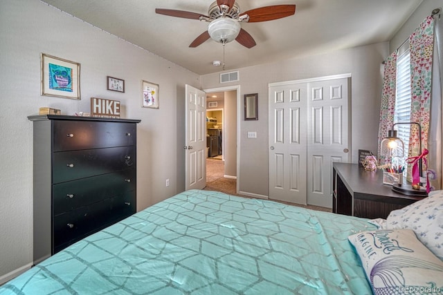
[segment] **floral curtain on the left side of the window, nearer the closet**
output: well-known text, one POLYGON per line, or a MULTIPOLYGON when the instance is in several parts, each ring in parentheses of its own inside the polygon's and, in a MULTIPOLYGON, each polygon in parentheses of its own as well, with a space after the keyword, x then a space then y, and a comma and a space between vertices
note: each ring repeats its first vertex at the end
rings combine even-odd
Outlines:
POLYGON ((381 140, 388 135, 394 124, 395 85, 397 79, 397 51, 384 61, 383 90, 381 93, 380 124, 379 124, 379 164, 385 164, 386 155, 381 155, 381 140))

